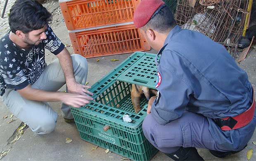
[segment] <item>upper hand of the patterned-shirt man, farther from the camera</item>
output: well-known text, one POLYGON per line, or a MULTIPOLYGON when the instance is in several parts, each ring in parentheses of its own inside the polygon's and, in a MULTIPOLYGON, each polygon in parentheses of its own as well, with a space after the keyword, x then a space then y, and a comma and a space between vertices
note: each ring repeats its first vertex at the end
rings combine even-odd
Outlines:
POLYGON ((88 91, 87 89, 90 88, 89 85, 81 85, 80 83, 73 82, 71 84, 66 84, 68 87, 68 92, 69 93, 74 93, 74 94, 81 94, 81 95, 93 95, 92 92, 88 91))

